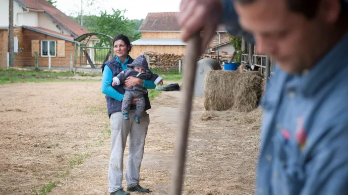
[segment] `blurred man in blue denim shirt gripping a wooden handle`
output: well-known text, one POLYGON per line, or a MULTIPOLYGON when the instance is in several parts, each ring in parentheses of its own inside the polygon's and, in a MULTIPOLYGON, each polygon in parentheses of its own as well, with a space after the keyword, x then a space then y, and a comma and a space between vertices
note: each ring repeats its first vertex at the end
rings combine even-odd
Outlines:
POLYGON ((347 8, 340 0, 182 1, 184 41, 203 30, 205 48, 223 23, 253 35, 277 63, 261 103, 256 194, 348 194, 347 8))

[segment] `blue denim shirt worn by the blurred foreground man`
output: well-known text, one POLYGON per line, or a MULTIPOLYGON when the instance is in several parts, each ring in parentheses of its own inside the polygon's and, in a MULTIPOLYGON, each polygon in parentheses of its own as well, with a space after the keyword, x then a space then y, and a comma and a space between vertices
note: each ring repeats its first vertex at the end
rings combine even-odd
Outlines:
MULTIPOLYGON (((235 25, 227 30, 240 35, 231 1, 222 3, 224 24, 235 25)), ((347 65, 348 34, 301 75, 275 67, 261 101, 256 194, 348 194, 347 65)))

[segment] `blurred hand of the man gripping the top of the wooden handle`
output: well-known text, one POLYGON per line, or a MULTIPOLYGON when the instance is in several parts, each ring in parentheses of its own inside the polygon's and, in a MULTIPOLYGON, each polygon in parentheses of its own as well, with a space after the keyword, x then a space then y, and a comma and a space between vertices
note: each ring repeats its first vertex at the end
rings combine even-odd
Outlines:
POLYGON ((221 0, 182 0, 178 17, 178 22, 183 31, 181 39, 186 42, 197 31, 203 30, 201 52, 204 53, 221 18, 221 0))

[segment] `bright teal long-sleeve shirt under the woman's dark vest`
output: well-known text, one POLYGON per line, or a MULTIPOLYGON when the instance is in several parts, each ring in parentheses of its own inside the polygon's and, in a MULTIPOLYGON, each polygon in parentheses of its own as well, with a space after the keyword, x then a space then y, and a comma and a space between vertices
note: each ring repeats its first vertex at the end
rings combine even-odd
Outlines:
MULTIPOLYGON (((117 59, 119 61, 119 58, 117 59)), ((128 59, 129 58, 127 58, 124 64, 121 63, 123 70, 127 68, 128 59)), ((101 79, 101 92, 121 102, 123 99, 123 94, 121 94, 119 91, 112 88, 111 83, 112 83, 112 71, 110 70, 108 66, 105 66, 103 71, 103 76, 101 79)), ((143 88, 146 88, 146 89, 156 88, 155 83, 153 83, 151 80, 143 80, 143 83, 144 83, 143 88)))

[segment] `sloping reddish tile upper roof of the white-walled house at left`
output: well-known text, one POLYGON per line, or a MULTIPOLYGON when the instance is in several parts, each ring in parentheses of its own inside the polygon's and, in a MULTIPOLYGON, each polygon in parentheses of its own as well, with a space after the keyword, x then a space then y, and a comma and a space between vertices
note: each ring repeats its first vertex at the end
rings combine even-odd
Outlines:
MULTIPOLYGON (((83 28, 79 23, 71 19, 69 16, 65 15, 60 10, 56 9, 46 0, 16 0, 20 6, 24 8, 35 9, 38 11, 44 11, 49 15, 53 21, 62 24, 64 27, 74 35, 74 37, 81 36, 83 34, 89 33, 89 31, 83 28), (22 4, 22 5, 21 5, 22 4)), ((92 37, 97 39, 97 37, 92 37)))

